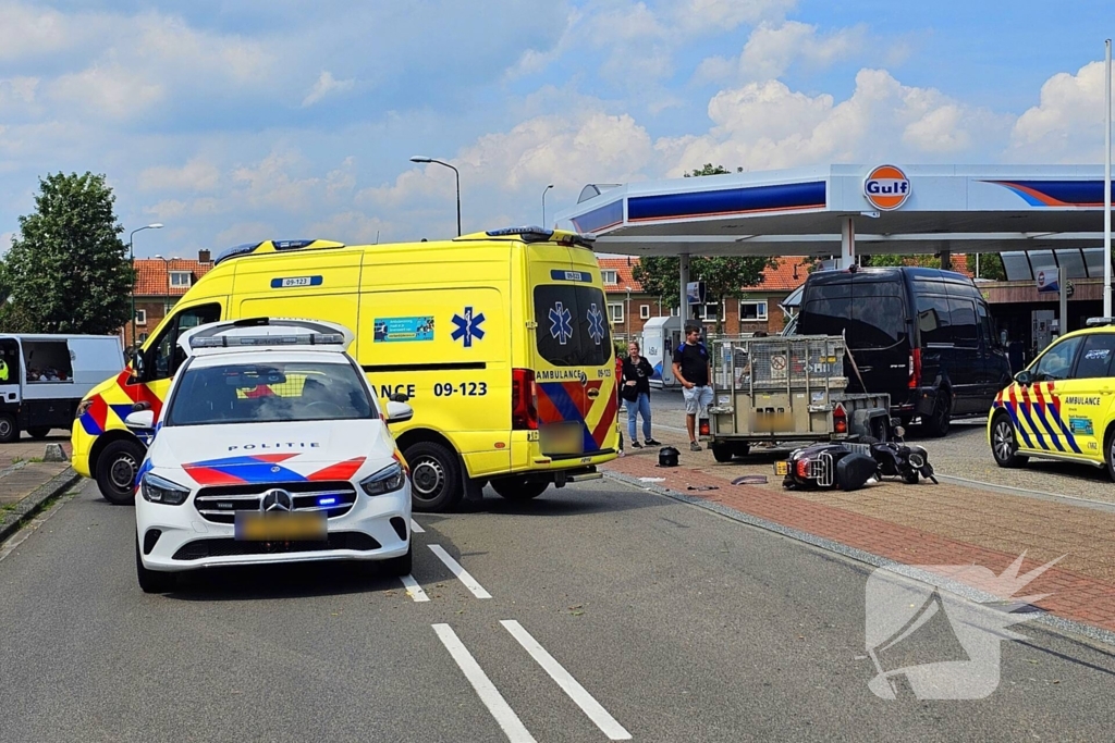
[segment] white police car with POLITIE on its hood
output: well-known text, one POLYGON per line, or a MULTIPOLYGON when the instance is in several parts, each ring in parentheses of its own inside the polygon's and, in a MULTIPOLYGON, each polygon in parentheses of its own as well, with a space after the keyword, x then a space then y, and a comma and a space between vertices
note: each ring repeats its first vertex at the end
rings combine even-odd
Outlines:
POLYGON ((346 349, 348 329, 311 320, 201 325, 166 403, 133 412, 155 434, 136 478, 136 573, 147 593, 223 565, 385 560, 410 573, 410 483, 346 349))

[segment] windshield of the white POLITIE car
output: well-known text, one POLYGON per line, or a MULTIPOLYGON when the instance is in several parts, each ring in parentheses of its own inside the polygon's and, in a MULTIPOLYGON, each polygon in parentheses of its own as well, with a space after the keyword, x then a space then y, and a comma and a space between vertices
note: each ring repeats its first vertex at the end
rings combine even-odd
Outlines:
POLYGON ((187 366, 165 426, 372 418, 378 412, 348 363, 269 362, 187 366))

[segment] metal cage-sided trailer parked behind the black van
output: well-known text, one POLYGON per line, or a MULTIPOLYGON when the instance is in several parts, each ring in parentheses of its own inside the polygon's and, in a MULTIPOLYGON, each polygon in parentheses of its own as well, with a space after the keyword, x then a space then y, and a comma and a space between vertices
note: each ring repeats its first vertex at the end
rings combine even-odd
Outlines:
POLYGON ((838 335, 721 341, 711 349, 709 446, 719 462, 755 443, 886 440, 890 395, 847 392, 838 335))

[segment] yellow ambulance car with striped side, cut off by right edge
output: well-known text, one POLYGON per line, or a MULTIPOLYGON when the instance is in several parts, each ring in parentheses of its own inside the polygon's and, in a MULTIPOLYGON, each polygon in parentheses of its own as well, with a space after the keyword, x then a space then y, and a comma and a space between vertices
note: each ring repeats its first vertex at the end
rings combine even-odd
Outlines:
POLYGON ((1115 479, 1115 319, 1093 317, 1015 374, 991 407, 987 437, 1000 467, 1061 459, 1115 479))

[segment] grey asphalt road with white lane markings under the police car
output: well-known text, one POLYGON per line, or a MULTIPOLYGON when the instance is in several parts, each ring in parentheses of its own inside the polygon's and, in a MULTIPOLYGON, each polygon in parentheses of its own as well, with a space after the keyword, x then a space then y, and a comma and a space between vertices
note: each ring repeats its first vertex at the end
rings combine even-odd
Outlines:
MULTIPOLYGON (((605 480, 417 521, 426 602, 343 566, 147 596, 133 510, 86 485, 0 558, 0 740, 1094 741, 1115 725, 1115 655, 1037 626, 1004 643, 987 698, 876 697, 866 567, 665 497, 605 480)), ((931 620, 886 666, 957 652, 931 620)))

